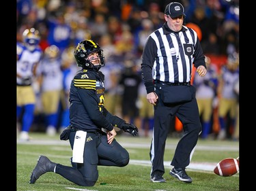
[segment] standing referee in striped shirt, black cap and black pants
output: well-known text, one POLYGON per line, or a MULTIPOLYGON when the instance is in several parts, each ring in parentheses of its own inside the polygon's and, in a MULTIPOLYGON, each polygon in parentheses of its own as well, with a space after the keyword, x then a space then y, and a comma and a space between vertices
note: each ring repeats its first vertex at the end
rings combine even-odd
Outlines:
POLYGON ((197 33, 185 27, 184 7, 172 2, 165 7, 165 23, 147 38, 141 71, 147 101, 154 105, 154 130, 150 147, 152 182, 165 182, 165 141, 175 116, 183 124, 184 135, 177 143, 169 174, 191 183, 186 174, 201 133, 195 88, 190 84, 193 64, 204 76, 205 56, 197 33))

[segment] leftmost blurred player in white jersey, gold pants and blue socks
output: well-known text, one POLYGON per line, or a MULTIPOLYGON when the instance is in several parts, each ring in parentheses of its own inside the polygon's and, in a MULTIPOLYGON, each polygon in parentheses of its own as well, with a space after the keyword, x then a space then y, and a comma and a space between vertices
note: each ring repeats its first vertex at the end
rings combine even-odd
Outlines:
POLYGON ((35 92, 33 82, 35 80, 36 69, 42 58, 42 50, 38 46, 40 34, 34 28, 25 29, 23 32, 23 42, 17 42, 17 124, 20 131, 20 141, 29 140, 29 130, 34 118, 35 92), (19 125, 18 125, 19 126, 19 125))

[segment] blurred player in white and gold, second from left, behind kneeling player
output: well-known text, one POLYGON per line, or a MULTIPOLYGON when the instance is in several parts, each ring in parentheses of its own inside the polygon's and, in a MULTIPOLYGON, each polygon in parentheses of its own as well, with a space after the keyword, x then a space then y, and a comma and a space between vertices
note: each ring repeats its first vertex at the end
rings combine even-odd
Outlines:
POLYGON ((57 132, 59 103, 63 88, 61 59, 57 46, 51 45, 44 50, 44 56, 38 65, 38 75, 46 134, 53 136, 57 132))

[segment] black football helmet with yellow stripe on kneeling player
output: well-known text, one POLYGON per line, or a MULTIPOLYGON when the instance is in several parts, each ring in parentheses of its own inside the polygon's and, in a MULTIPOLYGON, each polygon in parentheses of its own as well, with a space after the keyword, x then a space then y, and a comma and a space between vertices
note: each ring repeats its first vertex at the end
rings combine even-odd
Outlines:
POLYGON ((79 44, 76 46, 76 49, 74 50, 74 58, 76 58, 76 64, 79 67, 83 67, 85 69, 91 68, 99 70, 105 65, 103 50, 95 41, 91 39, 79 42, 79 44), (88 58, 88 55, 94 52, 98 52, 100 65, 93 65, 88 58))

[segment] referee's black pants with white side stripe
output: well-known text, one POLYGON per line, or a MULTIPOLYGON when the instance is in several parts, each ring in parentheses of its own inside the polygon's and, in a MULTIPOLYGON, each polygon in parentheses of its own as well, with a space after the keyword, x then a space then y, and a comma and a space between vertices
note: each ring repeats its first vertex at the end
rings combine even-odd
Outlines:
POLYGON ((165 173, 165 142, 175 116, 183 124, 184 135, 177 143, 175 154, 171 161, 173 167, 185 168, 190 164, 190 159, 193 156, 194 148, 197 145, 199 133, 201 133, 202 129, 195 94, 192 101, 178 105, 165 105, 162 103, 158 84, 156 84, 156 94, 158 94, 158 103, 154 106, 154 131, 150 147, 152 176, 165 173))

